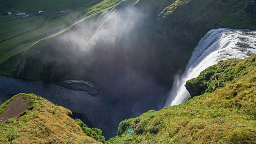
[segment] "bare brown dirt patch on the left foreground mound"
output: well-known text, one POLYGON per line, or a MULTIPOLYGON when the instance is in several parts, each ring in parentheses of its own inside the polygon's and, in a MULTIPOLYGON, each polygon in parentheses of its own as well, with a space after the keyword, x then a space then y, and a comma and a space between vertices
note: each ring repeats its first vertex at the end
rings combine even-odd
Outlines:
POLYGON ((28 104, 22 99, 22 95, 17 96, 9 104, 7 109, 0 115, 0 123, 8 118, 19 118, 20 113, 28 109, 28 104))

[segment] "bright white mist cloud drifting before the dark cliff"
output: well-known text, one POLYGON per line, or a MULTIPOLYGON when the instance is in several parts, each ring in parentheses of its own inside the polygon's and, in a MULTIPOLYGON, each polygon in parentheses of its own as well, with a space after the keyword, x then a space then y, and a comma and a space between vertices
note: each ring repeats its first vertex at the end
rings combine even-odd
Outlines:
POLYGON ((122 8, 105 12, 100 18, 89 18, 77 24, 69 32, 58 36, 56 43, 65 44, 67 49, 77 51, 78 56, 92 57, 95 48, 111 50, 114 44, 135 26, 144 14, 136 8, 122 8))

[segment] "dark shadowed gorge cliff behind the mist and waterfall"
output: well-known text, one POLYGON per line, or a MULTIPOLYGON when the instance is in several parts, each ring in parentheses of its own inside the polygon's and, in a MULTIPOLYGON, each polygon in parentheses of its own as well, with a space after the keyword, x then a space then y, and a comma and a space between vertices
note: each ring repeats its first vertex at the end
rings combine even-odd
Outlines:
POLYGON ((10 58, 9 65, 15 67, 8 70, 14 77, 97 83, 118 74, 132 77, 132 71, 170 88, 172 76, 184 69, 206 32, 256 29, 255 13, 255 2, 248 0, 105 0, 82 23, 10 58))

